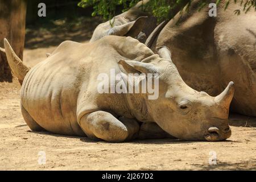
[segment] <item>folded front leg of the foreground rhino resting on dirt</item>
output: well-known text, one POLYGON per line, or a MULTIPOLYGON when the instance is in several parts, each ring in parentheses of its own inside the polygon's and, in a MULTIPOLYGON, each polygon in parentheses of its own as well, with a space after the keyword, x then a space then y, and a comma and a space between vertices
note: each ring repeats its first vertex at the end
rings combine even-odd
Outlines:
POLYGON ((85 114, 80 119, 84 133, 92 139, 103 139, 108 142, 123 142, 138 133, 139 125, 133 119, 122 119, 122 122, 106 111, 95 111, 85 114))

